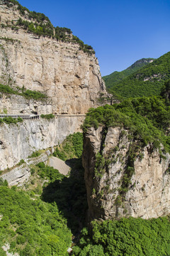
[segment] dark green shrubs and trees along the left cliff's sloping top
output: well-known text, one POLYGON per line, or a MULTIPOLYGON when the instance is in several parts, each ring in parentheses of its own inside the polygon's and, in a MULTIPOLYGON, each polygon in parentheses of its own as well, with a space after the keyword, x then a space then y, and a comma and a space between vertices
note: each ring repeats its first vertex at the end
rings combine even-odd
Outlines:
MULTIPOLYGON (((84 53, 89 55, 95 53, 91 46, 84 44, 77 36, 72 35, 72 31, 69 28, 54 27, 49 18, 45 14, 40 14, 35 11, 29 11, 26 7, 21 6, 16 0, 6 0, 6 4, 10 6, 15 4, 18 6, 18 11, 21 16, 25 18, 28 16, 28 20, 18 18, 16 25, 11 26, 12 29, 18 30, 20 27, 26 29, 30 33, 34 33, 37 36, 48 36, 56 38, 57 41, 72 42, 79 44, 79 50, 83 50, 84 53), (29 21, 30 20, 30 21, 29 21)), ((4 24, 2 24, 4 27, 4 24)))

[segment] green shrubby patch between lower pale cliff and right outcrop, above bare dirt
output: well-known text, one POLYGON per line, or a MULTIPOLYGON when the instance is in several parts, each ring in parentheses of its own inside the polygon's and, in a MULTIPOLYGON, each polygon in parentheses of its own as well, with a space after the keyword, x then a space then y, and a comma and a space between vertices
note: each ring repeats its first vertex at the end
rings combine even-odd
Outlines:
POLYGON ((74 134, 67 136, 62 145, 57 146, 53 155, 65 161, 73 157, 81 157, 82 151, 83 134, 81 132, 74 132, 74 134))

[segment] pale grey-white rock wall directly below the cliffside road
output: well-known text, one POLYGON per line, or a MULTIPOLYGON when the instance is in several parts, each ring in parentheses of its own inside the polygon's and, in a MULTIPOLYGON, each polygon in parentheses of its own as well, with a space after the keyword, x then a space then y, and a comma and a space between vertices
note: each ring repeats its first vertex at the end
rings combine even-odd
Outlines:
POLYGON ((84 117, 55 117, 50 121, 25 120, 20 124, 1 124, 0 170, 11 168, 33 151, 60 144, 79 131, 84 117))

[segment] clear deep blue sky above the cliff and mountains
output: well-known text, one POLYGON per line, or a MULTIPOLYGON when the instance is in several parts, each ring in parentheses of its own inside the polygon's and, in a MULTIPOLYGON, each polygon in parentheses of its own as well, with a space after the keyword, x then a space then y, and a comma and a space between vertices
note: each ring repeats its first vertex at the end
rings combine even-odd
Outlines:
POLYGON ((170 50, 170 0, 18 0, 96 51, 101 75, 170 50))

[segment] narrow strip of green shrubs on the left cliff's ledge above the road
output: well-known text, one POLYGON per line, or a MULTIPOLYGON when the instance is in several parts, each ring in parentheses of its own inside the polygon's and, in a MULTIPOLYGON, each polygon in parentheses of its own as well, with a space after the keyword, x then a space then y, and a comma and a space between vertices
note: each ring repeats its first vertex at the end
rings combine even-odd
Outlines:
POLYGON ((41 92, 32 91, 32 90, 25 90, 24 88, 18 90, 14 90, 8 85, 1 85, 0 84, 0 92, 5 94, 14 94, 14 95, 21 95, 23 97, 26 97, 28 99, 34 99, 34 100, 44 100, 47 98, 46 95, 42 94, 41 92), (22 90, 20 92, 19 90, 22 90))

